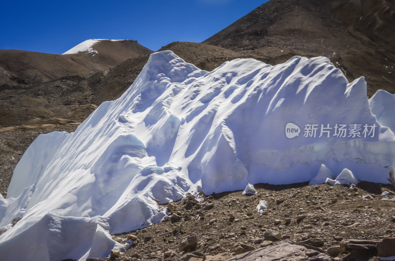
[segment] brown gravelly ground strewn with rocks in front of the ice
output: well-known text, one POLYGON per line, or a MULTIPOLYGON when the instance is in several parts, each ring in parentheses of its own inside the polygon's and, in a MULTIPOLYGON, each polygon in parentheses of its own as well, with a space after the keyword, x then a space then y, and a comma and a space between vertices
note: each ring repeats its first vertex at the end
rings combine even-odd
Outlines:
POLYGON ((113 235, 119 242, 134 241, 119 257, 115 252, 112 260, 221 261, 286 241, 304 246, 306 259, 284 260, 376 261, 377 242, 395 237, 391 185, 302 183, 257 184, 255 188, 258 193, 249 196, 242 191, 223 192, 204 196, 202 202, 190 196, 159 206, 172 216, 144 229, 113 235), (382 196, 385 191, 388 195, 382 196), (262 215, 256 209, 260 200, 268 205, 262 215), (195 247, 185 244, 188 237, 195 247), (371 250, 358 250, 361 245, 371 250), (345 253, 338 254, 337 246, 343 246, 345 253), (328 251, 333 256, 321 254, 328 251), (319 255, 327 259, 315 258, 319 255))

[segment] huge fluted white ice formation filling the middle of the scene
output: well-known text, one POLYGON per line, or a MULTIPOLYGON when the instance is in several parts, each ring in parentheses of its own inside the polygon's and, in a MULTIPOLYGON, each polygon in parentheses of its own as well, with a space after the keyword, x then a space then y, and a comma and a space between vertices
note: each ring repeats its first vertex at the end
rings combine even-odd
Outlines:
POLYGON ((276 66, 236 59, 206 72, 171 51, 154 53, 120 98, 74 133, 39 136, 27 150, 10 195, 0 197, 0 230, 8 228, 0 256, 104 257, 127 247, 111 234, 165 217, 154 199, 311 181, 322 164, 389 183, 394 155, 394 133, 370 111, 364 78, 348 83, 325 57, 276 66), (301 129, 287 138, 290 122, 301 129), (304 137, 306 124, 377 128, 372 137, 304 137))

